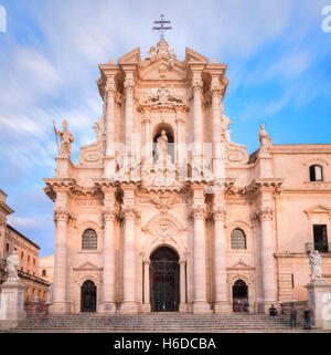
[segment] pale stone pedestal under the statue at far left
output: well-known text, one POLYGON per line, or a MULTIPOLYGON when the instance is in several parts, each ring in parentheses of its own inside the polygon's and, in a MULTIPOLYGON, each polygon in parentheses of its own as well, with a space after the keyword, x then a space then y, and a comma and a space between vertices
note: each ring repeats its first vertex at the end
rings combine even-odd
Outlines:
POLYGON ((1 285, 0 328, 15 327, 26 317, 24 311, 25 285, 19 281, 7 281, 1 285))

